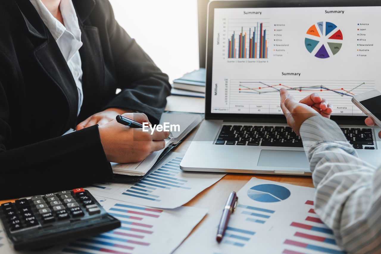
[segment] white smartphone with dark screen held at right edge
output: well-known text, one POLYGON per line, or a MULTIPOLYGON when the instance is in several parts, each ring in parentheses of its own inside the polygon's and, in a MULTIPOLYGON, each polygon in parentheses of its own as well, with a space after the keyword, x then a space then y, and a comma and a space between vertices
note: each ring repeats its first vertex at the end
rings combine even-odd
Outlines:
POLYGON ((352 97, 352 102, 381 127, 381 92, 370 90, 352 97))

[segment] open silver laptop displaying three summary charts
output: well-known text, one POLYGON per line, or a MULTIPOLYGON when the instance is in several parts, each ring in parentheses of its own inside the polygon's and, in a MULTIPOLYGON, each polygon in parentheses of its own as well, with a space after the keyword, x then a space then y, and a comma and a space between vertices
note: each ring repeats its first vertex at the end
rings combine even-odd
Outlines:
POLYGON ((280 109, 316 92, 360 158, 381 164, 379 128, 352 96, 381 90, 381 1, 213 1, 208 5, 205 121, 182 170, 311 175, 280 109))

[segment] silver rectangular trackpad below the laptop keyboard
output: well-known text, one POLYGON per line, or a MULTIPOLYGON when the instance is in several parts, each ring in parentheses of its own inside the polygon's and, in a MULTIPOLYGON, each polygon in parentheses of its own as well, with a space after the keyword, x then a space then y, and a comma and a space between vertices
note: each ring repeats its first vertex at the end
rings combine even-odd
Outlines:
POLYGON ((258 166, 309 169, 309 163, 304 151, 261 150, 258 166))

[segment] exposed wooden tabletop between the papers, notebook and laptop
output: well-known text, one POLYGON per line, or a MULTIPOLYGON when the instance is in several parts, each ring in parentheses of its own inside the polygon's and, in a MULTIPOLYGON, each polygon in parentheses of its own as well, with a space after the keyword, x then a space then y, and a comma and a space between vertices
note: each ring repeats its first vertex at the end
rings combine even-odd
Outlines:
MULTIPOLYGON (((185 153, 188 147, 191 145, 195 133, 198 128, 193 130, 189 136, 174 149, 175 152, 185 153)), ((236 174, 228 173, 221 180, 203 190, 191 201, 184 204, 184 206, 193 206, 200 208, 207 208, 208 214, 204 219, 192 230, 199 227, 202 223, 205 223, 211 215, 215 214, 218 210, 222 209, 229 193, 232 191, 239 191, 252 177, 270 180, 280 183, 288 183, 299 186, 314 187, 311 176, 298 176, 298 175, 263 175, 263 174, 236 174)))

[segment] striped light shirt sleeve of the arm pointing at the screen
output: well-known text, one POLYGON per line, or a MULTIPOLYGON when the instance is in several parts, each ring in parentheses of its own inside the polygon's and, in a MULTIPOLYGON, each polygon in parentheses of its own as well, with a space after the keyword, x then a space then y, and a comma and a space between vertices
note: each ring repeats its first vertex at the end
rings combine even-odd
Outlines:
POLYGON ((327 118, 307 119, 300 135, 316 188, 316 213, 343 250, 381 253, 381 169, 359 159, 327 118))

